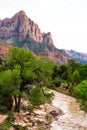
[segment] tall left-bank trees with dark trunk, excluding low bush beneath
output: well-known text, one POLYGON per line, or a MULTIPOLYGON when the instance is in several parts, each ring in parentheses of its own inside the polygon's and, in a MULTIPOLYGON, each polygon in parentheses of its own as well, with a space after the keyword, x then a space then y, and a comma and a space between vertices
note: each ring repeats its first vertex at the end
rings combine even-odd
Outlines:
MULTIPOLYGON (((3 95, 14 97, 14 110, 20 112, 22 94, 31 89, 28 84, 50 86, 53 67, 54 63, 47 58, 37 58, 32 52, 24 48, 12 48, 8 53, 7 70, 5 69, 0 73, 2 97, 3 95)), ((43 87, 41 89, 43 91, 43 87)))

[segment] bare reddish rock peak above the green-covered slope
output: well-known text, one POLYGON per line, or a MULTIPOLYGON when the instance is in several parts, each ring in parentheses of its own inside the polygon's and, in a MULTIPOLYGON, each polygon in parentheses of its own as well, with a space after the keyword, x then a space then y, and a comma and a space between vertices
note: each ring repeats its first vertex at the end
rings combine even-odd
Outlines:
POLYGON ((28 18, 24 11, 18 12, 11 19, 0 21, 0 37, 7 39, 15 37, 19 40, 31 38, 36 42, 53 46, 51 33, 41 33, 38 25, 28 18))

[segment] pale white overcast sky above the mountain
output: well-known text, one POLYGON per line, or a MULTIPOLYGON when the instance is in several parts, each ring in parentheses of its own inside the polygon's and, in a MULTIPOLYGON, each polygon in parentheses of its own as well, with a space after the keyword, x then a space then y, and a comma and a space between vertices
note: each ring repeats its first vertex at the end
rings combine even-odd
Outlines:
POLYGON ((59 49, 87 53, 87 0, 0 0, 0 19, 24 10, 59 49))

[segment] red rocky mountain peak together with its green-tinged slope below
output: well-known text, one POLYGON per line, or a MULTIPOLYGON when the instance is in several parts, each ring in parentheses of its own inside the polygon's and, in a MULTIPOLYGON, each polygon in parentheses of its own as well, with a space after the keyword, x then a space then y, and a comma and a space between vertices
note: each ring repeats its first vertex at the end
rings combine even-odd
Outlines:
POLYGON ((0 38, 11 45, 32 50, 38 56, 47 56, 58 64, 67 63, 71 58, 55 48, 51 33, 42 33, 24 11, 0 20, 0 38))

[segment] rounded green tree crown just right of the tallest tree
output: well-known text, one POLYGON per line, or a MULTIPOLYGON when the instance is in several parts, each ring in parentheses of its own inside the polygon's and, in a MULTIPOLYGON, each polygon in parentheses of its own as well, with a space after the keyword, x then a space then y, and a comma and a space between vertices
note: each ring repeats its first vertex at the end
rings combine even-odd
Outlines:
POLYGON ((37 82, 42 86, 50 87, 52 85, 52 74, 55 64, 46 57, 40 57, 35 65, 37 66, 37 69, 35 70, 37 82))

